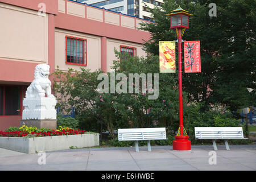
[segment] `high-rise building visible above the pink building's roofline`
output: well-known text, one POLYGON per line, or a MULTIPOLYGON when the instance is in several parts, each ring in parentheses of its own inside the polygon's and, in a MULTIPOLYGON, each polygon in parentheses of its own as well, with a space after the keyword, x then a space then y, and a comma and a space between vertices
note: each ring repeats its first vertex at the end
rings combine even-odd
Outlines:
POLYGON ((106 10, 116 11, 147 20, 152 20, 150 9, 163 4, 163 0, 77 0, 77 2, 104 7, 106 10))

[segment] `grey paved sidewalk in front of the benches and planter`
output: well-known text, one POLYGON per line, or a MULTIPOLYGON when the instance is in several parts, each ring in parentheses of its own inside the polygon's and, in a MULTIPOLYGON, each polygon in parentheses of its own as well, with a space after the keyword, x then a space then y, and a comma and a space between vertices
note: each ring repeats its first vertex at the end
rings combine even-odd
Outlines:
MULTIPOLYGON (((255 171, 256 145, 218 146, 216 164, 209 164, 212 146, 192 146, 191 151, 173 151, 172 146, 82 148, 46 152, 46 164, 38 154, 23 154, 0 148, 0 171, 255 171)), ((212 161, 212 160, 210 160, 212 161)))

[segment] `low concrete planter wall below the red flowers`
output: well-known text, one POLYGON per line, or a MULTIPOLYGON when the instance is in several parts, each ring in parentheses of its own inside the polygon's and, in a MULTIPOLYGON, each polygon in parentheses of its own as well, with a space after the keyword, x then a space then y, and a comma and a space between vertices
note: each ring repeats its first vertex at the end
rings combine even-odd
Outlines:
POLYGON ((92 147, 100 144, 100 134, 61 135, 52 137, 0 137, 0 148, 6 148, 26 154, 36 151, 65 150, 69 147, 92 147))

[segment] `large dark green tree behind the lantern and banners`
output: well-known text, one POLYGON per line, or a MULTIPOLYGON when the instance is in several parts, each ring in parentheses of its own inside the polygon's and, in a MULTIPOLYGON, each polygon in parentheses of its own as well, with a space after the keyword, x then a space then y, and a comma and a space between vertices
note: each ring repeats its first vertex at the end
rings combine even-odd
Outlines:
POLYGON ((193 14, 183 39, 200 40, 201 46, 201 73, 183 73, 183 89, 188 93, 188 101, 203 101, 204 109, 209 109, 209 104, 223 104, 237 110, 255 103, 256 2, 215 1, 217 17, 210 17, 211 2, 164 0, 162 7, 151 10, 155 23, 142 23, 141 29, 152 36, 145 42, 145 49, 158 55, 159 41, 177 39, 166 14, 180 5, 193 14), (253 92, 248 88, 254 89, 253 92))

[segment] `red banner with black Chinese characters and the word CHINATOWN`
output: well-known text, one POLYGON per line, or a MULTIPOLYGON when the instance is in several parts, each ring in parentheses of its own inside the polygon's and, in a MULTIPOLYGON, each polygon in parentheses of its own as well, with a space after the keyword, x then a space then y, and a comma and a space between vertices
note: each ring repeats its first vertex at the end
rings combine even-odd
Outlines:
POLYGON ((184 42, 185 73, 201 72, 200 41, 184 42))

